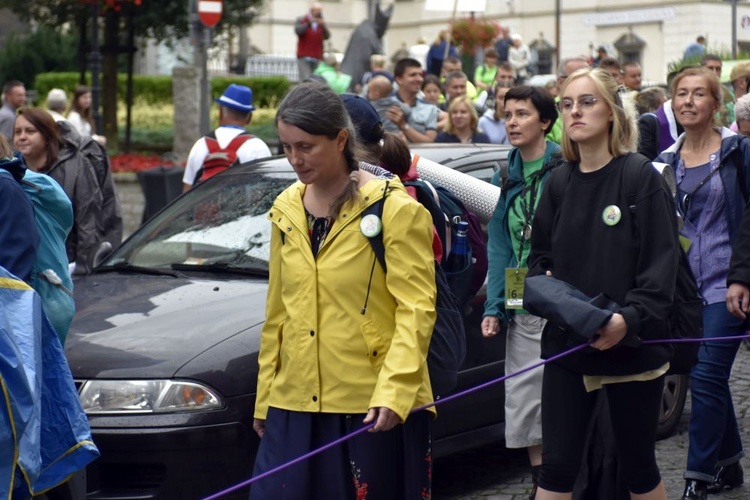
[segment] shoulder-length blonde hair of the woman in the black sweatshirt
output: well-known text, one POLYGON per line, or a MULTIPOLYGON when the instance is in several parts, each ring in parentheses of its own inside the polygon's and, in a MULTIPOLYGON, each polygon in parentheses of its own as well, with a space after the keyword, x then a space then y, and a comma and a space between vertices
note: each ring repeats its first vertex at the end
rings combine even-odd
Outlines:
MULTIPOLYGON (((604 103, 612 112, 612 123, 609 126, 609 139, 607 149, 614 156, 622 156, 633 152, 638 146, 638 126, 636 122, 635 106, 632 99, 625 99, 619 92, 619 85, 612 75, 600 68, 582 68, 575 71, 565 80, 560 92, 564 95, 565 89, 571 82, 579 78, 588 77, 596 87, 604 103)), ((563 157, 568 161, 580 161, 581 154, 578 144, 568 137, 567 130, 563 126, 562 140, 560 141, 563 157)))

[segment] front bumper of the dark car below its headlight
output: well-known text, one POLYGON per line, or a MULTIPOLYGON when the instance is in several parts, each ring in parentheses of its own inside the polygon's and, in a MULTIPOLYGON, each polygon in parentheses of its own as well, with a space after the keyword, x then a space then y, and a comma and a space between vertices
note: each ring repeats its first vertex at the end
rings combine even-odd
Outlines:
MULTIPOLYGON (((252 475, 254 396, 223 410, 90 416, 102 456, 87 468, 88 500, 200 499, 252 475)), ((247 498, 248 489, 225 498, 247 498)))

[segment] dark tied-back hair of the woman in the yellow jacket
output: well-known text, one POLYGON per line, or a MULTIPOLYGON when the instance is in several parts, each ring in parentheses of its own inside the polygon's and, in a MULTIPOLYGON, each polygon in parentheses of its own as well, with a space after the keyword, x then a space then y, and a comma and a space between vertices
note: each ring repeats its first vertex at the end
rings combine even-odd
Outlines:
MULTIPOLYGON (((331 140, 338 137, 342 130, 346 130, 349 137, 344 146, 344 159, 349 172, 359 170, 356 134, 349 113, 341 102, 341 97, 328 85, 303 82, 292 87, 279 104, 275 121, 277 127, 279 121, 294 125, 310 135, 322 135, 331 140)), ((344 203, 356 198, 359 193, 357 176, 351 176, 351 179, 347 189, 331 205, 331 215, 334 218, 344 203)))

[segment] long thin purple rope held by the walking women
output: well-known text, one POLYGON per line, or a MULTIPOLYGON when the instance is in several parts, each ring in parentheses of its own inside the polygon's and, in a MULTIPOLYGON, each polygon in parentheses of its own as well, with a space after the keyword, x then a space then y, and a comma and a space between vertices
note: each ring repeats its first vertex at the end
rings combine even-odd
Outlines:
MULTIPOLYGON (((713 341, 722 341, 722 340, 741 340, 741 339, 750 339, 750 334, 737 335, 737 336, 732 336, 732 337, 714 337, 714 338, 710 338, 710 339, 706 339, 706 338, 699 338, 699 339, 655 339, 655 340, 644 340, 642 343, 643 344, 666 344, 666 343, 685 343, 685 342, 700 342, 700 343, 703 343, 703 342, 713 342, 713 341)), ((509 378, 517 377, 518 375, 521 375, 521 374, 526 373, 528 371, 531 371, 531 370, 534 370, 536 368, 539 368, 540 366, 544 366, 547 363, 551 363, 553 361, 557 361, 558 359, 563 358, 565 356, 568 356, 568 355, 570 355, 570 354, 572 354, 572 353, 574 353, 576 351, 580 351, 581 349, 583 349, 584 347, 587 347, 587 346, 588 346, 588 344, 577 345, 577 346, 575 346, 575 347, 573 347, 571 349, 568 349, 567 351, 563 351, 560 354, 556 354, 556 355, 552 356, 551 358, 542 360, 539 363, 534 363, 533 365, 529 365, 526 368, 522 368, 521 370, 518 370, 515 373, 511 373, 510 375, 505 375, 505 376, 502 376, 502 377, 499 377, 499 378, 487 381, 487 382, 485 382, 483 384, 480 384, 480 385, 477 385, 475 387, 471 387, 469 389, 466 389, 465 391, 457 392, 456 394, 452 394, 452 395, 450 395, 448 397, 445 397, 445 398, 440 398, 437 401, 433 401, 432 403, 428 403, 426 405, 422 405, 422 406, 420 406, 418 408, 413 409, 411 411, 411 413, 416 413, 418 411, 425 410, 425 409, 430 408, 432 406, 438 406, 438 405, 441 405, 443 403, 447 403, 448 401, 453 401, 454 399, 461 398, 461 397, 467 396, 469 394, 473 394, 473 393, 475 393, 477 391, 480 391, 482 389, 485 389, 485 388, 487 388, 487 387, 489 387, 491 385, 498 384, 500 382, 504 382, 505 380, 507 380, 509 378)), ((329 450, 329 449, 333 448, 334 446, 338 446, 339 444, 343 443, 344 441, 348 441, 349 439, 351 439, 351 438, 353 438, 355 436, 359 436, 360 434, 363 434, 365 431, 370 430, 374 426, 375 426, 375 422, 373 422, 371 424, 368 424, 365 427, 362 427, 361 429, 358 429, 358 430, 356 430, 356 431, 354 431, 354 432, 352 432, 350 434, 346 434, 344 436, 341 436, 340 438, 336 439, 335 441, 332 441, 332 442, 330 442, 330 443, 328 443, 328 444, 326 444, 326 445, 324 445, 324 446, 322 446, 320 448, 317 448, 317 449, 314 449, 312 451, 309 451, 309 452, 305 453, 304 455, 302 455, 300 457, 297 457, 297 458, 295 458, 294 460, 292 460, 290 462, 286 462, 284 464, 279 465, 278 467, 275 467, 275 468, 273 468, 271 470, 268 470, 268 471, 264 472, 263 474, 259 474, 258 476, 251 477, 250 479, 247 479, 247 480, 245 480, 245 481, 243 481, 241 483, 235 484, 234 486, 230 486, 229 488, 227 488, 225 490, 221 490, 218 493, 214 493, 213 495, 211 495, 209 497, 206 497, 203 500, 216 500, 217 498, 221 498, 224 495, 232 493, 233 491, 237 491, 237 490, 239 490, 241 488, 249 486, 249 485, 255 483, 256 481, 260 481, 261 479, 264 479, 264 478, 266 478, 268 476, 276 474, 277 472, 281 472, 282 470, 288 469, 289 467, 292 467, 293 465, 297 465, 298 463, 303 462, 303 461, 307 460, 308 458, 311 458, 311 457, 313 457, 313 456, 315 456, 315 455, 317 455, 319 453, 322 453, 322 452, 324 452, 326 450, 329 450)))

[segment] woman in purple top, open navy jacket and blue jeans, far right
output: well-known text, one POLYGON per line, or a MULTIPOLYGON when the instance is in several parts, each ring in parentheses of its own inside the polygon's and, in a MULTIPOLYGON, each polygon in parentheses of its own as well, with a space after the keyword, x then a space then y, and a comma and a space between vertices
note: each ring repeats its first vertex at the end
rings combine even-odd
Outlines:
MULTIPOLYGON (((746 329, 742 319, 727 311, 726 302, 732 244, 750 192, 750 141, 716 125, 721 103, 721 84, 711 71, 691 68, 677 75, 672 107, 685 132, 657 158, 675 169, 684 218, 681 235, 690 242, 688 260, 705 303, 704 338, 742 335, 746 329)), ((704 499, 707 492, 743 482, 742 441, 729 392, 740 341, 704 345, 690 374, 684 500, 704 499)))

